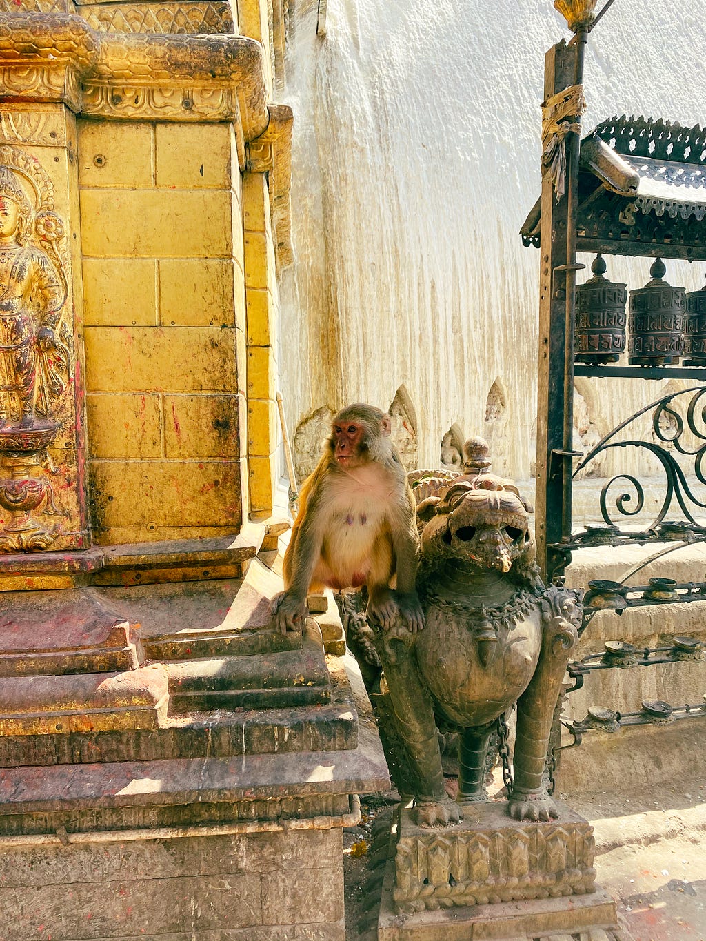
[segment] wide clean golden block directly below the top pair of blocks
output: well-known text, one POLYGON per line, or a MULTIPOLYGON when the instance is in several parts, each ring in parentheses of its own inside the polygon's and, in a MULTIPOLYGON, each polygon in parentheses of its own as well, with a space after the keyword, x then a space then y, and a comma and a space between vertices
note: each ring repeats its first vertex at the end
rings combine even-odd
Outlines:
POLYGON ((94 258, 230 258, 231 191, 84 189, 81 226, 94 258))

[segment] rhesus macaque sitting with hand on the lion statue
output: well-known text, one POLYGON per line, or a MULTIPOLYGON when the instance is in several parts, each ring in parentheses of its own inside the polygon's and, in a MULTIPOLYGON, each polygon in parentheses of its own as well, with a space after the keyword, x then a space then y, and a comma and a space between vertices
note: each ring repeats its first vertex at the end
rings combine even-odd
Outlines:
POLYGON ((327 586, 366 585, 368 617, 385 629, 397 614, 411 632, 424 627, 414 585, 414 497, 390 430, 390 416, 373 406, 348 406, 334 417, 326 452, 301 487, 284 591, 272 600, 282 633, 301 627, 307 595, 327 586))

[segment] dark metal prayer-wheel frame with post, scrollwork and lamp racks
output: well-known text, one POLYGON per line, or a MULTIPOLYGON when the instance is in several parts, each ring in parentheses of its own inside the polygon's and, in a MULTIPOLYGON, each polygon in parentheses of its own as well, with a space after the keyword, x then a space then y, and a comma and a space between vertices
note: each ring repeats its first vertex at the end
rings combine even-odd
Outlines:
MULTIPOLYGON (((609 5, 610 3, 604 9, 609 5)), ((602 12, 604 12, 604 9, 602 12)), ((562 91, 582 84, 586 40, 586 31, 579 31, 569 44, 562 40, 547 52, 544 71, 545 104, 546 100, 559 95, 562 91)), ((579 120, 580 115, 575 115, 570 117, 567 123, 578 124, 579 120)), ((612 119, 605 122, 605 124, 607 127, 611 122, 616 123, 618 134, 625 133, 626 130, 628 133, 632 133, 630 129, 625 128, 624 123, 621 123, 621 121, 623 120, 612 119)), ((618 375, 639 376, 645 379, 679 377, 706 381, 706 369, 700 367, 574 365, 575 275, 577 270, 585 267, 583 264, 576 263, 577 243, 583 251, 596 250, 605 254, 660 255, 662 258, 687 258, 691 260, 706 258, 706 223, 699 225, 703 217, 702 207, 698 206, 696 211, 693 207, 690 207, 693 217, 688 220, 688 223, 685 221, 686 216, 682 215, 676 226, 671 225, 666 220, 664 224, 662 222, 656 224, 650 237, 645 236, 645 232, 641 231, 640 234, 643 235, 641 241, 639 238, 629 237, 629 234, 626 236, 625 231, 618 231, 620 227, 615 227, 616 231, 601 232, 601 237, 596 237, 595 232, 588 231, 588 227, 586 227, 586 230, 577 231, 581 198, 584 199, 583 205, 592 206, 593 200, 598 201, 601 197, 601 194, 597 192, 597 189, 600 188, 602 188, 603 194, 607 196, 611 206, 613 206, 613 202, 621 199, 621 197, 618 195, 620 190, 611 187, 610 184, 608 184, 607 190, 605 187, 601 187, 600 183, 591 190, 593 184, 588 183, 587 189, 591 191, 587 192, 586 186, 584 186, 583 191, 580 191, 581 141, 580 135, 575 133, 579 128, 564 128, 563 130, 566 138, 564 192, 561 193, 560 187, 554 186, 552 169, 547 167, 543 160, 541 198, 521 231, 522 241, 525 246, 534 245, 540 249, 536 532, 538 564, 546 584, 562 584, 564 582, 565 569, 570 565, 571 550, 580 546, 620 545, 624 542, 646 543, 659 541, 664 543, 665 540, 674 541, 673 545, 666 546, 666 548, 650 556, 650 561, 653 561, 654 558, 683 545, 706 539, 706 527, 699 525, 693 515, 694 508, 702 508, 706 511, 706 503, 699 501, 691 492, 682 467, 673 455, 673 450, 676 450, 682 456, 693 458, 696 476, 701 483, 706 484, 706 465, 703 464, 704 455, 706 454, 706 407, 698 409, 699 403, 703 406, 701 397, 706 394, 706 386, 697 386, 690 390, 666 395, 662 399, 651 403, 650 406, 640 409, 635 415, 621 423, 617 429, 606 435, 588 455, 574 452, 572 444, 575 375, 602 376, 605 378, 618 375), (608 192, 608 190, 612 191, 608 192), (699 215, 701 218, 699 218, 699 215), (665 237, 663 238, 662 235, 665 237), (673 408, 670 408, 673 399, 688 393, 692 394, 692 400, 687 411, 686 427, 698 440, 696 449, 689 449, 685 445, 683 438, 686 428, 682 417, 673 408), (654 413, 652 429, 656 440, 645 442, 639 439, 628 441, 618 439, 620 432, 626 426, 650 409, 654 413), (660 428, 659 419, 663 414, 668 414, 675 423, 673 434, 665 434, 660 428), (702 423, 702 427, 699 422, 702 423), (665 501, 656 518, 643 531, 631 533, 629 530, 621 530, 615 525, 614 518, 608 511, 608 491, 620 478, 626 476, 618 474, 602 488, 600 499, 605 526, 587 527, 583 534, 572 534, 573 458, 581 457, 580 470, 595 456, 615 447, 647 447, 650 450, 665 471, 665 501), (670 524, 666 521, 666 514, 674 501, 678 503, 686 519, 670 524)), ((652 127, 650 127, 649 133, 653 134, 652 127)), ((657 136, 660 134, 669 138, 669 141, 664 144, 666 154, 671 152, 666 148, 673 138, 678 141, 678 146, 682 148, 679 155, 683 158, 684 147, 689 146, 689 140, 691 140, 701 145, 699 146, 699 159, 701 159, 700 151, 701 147, 706 146, 704 145, 706 133, 701 131, 700 128, 683 129, 680 125, 660 122, 657 136)), ((601 141, 594 144, 593 141, 595 140, 595 137, 592 138, 592 150, 589 148, 586 156, 590 158, 593 155, 596 159, 599 159, 601 158, 599 152, 605 149, 605 145, 601 141)), ((650 153, 655 149, 651 141, 648 141, 647 144, 644 140, 638 143, 640 147, 643 145, 649 148, 650 153)), ((686 156, 688 157, 688 155, 687 152, 686 156)), ((625 188, 630 190, 630 186, 625 188)), ((635 192, 636 190, 637 186, 635 186, 635 192)), ((633 196, 631 190, 631 197, 633 196)), ((624 204, 629 201, 627 193, 623 194, 622 199, 624 204)), ((613 208, 615 209, 615 207, 613 208)), ((633 476, 628 477, 628 481, 633 486, 634 492, 632 494, 628 492, 618 494, 616 501, 618 516, 629 517, 634 515, 634 506, 642 502, 640 482, 633 476)), ((629 575, 634 574, 634 571, 638 570, 639 567, 641 566, 635 566, 635 569, 631 570, 629 575)), ((668 582, 669 580, 652 581, 668 582)), ((620 589, 621 586, 618 584, 615 587, 620 589)), ((665 594, 666 596, 671 595, 671 597, 660 598, 660 587, 665 586, 655 588, 650 583, 650 585, 642 588, 633 588, 632 586, 630 589, 626 588, 619 607, 697 600, 703 599, 706 595, 703 586, 700 584, 676 585, 674 583, 666 586, 665 594)), ((587 617, 585 626, 595 610, 602 606, 599 596, 600 592, 598 590, 594 591, 592 598, 590 592, 586 596, 585 611, 587 617), (592 607, 592 605, 595 605, 595 607, 592 607)), ((604 607, 610 607, 610 604, 606 604, 604 607)), ((614 610, 618 610, 618 605, 614 607, 614 610)), ((699 642, 693 638, 677 640, 681 640, 683 642, 682 646, 689 648, 686 654, 679 645, 668 650, 660 648, 655 651, 645 650, 641 653, 637 651, 638 656, 633 658, 634 662, 630 658, 621 660, 619 654, 613 658, 602 654, 600 657, 596 655, 599 662, 593 664, 593 668, 625 668, 626 666, 650 665, 656 662, 703 659, 702 645, 699 642), (698 646, 698 649, 691 649, 694 645, 698 646)), ((571 666, 575 667, 573 674, 575 685, 573 689, 567 692, 573 692, 583 684, 584 674, 591 669, 591 658, 589 657, 587 660, 588 663, 570 664, 570 673, 571 666)), ((550 739, 550 756, 548 758, 550 768, 556 765, 557 771, 559 753, 562 747, 571 747, 571 745, 562 746, 560 744, 561 725, 569 728, 574 738, 573 744, 579 744, 582 734, 590 729, 618 731, 621 724, 641 725, 650 723, 666 725, 677 718, 706 717, 706 706, 685 706, 675 710, 666 703, 657 702, 644 703, 643 710, 639 713, 624 716, 620 716, 619 713, 612 713, 608 722, 602 722, 601 716, 596 720, 589 715, 582 723, 574 723, 568 726, 560 718, 562 699, 563 696, 560 696, 555 710, 554 726, 550 739)), ((610 710, 601 711, 610 712, 610 710)), ((605 719, 605 717, 602 718, 605 719)))

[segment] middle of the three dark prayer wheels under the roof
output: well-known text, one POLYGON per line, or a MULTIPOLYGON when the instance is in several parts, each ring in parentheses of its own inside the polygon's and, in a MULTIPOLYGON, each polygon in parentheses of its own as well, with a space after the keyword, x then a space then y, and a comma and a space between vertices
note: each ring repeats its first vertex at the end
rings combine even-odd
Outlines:
POLYGON ((650 267, 652 279, 644 288, 630 292, 631 366, 669 366, 682 356, 686 298, 683 288, 664 280, 666 267, 657 258, 650 267))

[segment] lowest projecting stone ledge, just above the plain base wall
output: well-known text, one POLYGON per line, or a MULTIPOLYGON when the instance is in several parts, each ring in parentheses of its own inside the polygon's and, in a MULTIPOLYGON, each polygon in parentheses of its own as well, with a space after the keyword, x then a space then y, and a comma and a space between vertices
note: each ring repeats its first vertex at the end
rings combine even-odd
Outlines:
POLYGON ((286 826, 285 818, 347 812, 350 794, 389 786, 379 738, 368 724, 345 750, 6 768, 0 770, 0 843, 13 835, 49 834, 59 842, 81 831, 149 833, 210 821, 286 826))

